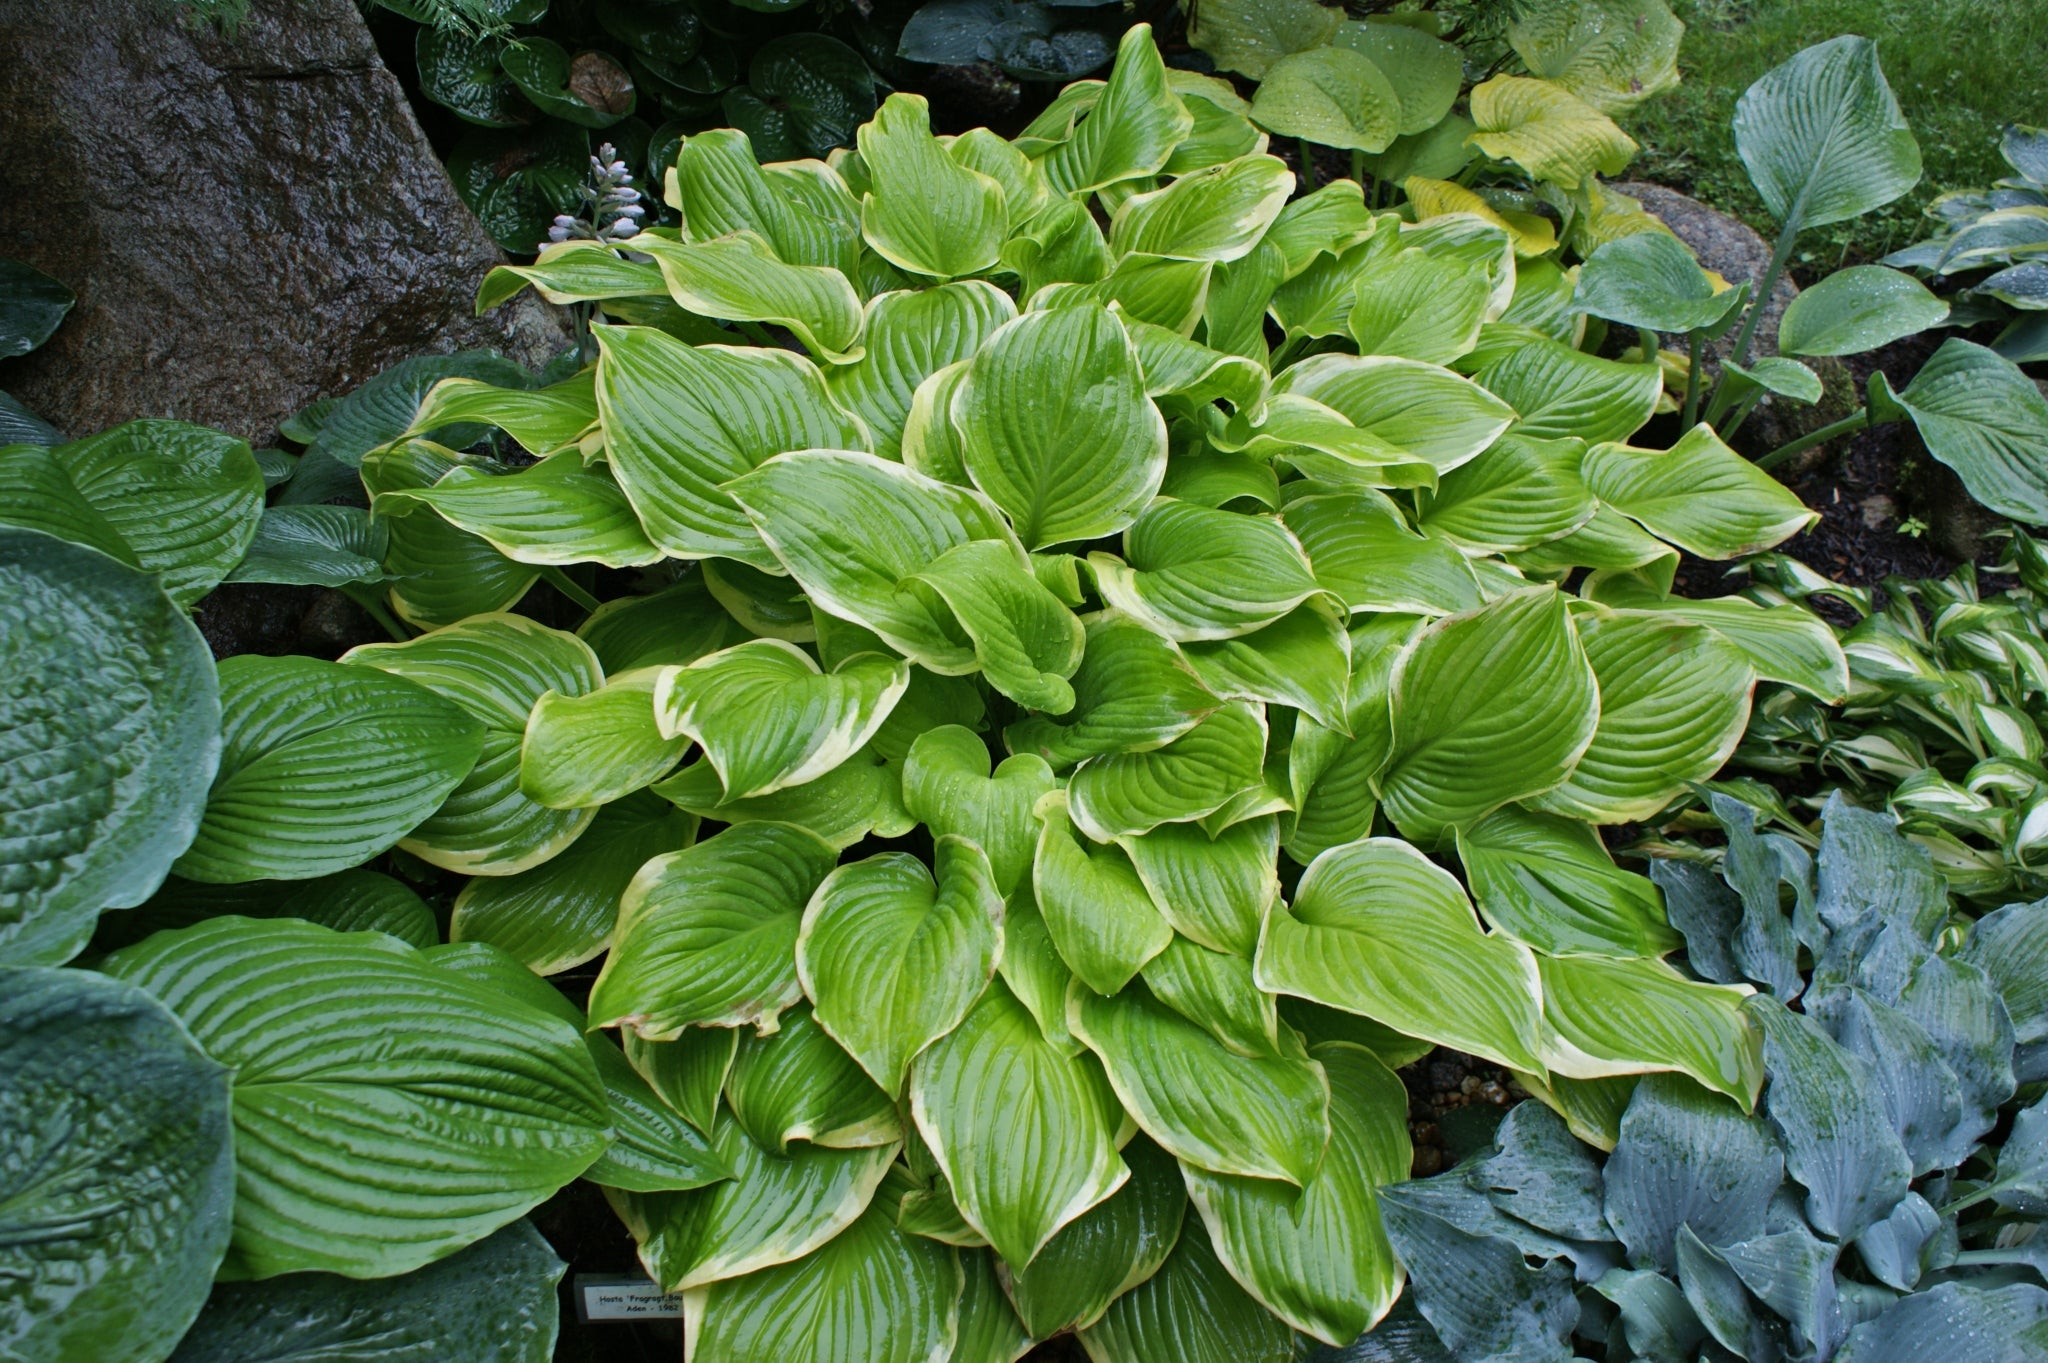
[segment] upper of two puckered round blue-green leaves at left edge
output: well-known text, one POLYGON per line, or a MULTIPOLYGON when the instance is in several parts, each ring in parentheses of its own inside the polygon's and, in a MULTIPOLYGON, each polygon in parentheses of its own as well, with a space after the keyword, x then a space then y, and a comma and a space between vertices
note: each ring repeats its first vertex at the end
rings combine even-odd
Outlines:
POLYGON ((154 577, 0 528, 0 751, 20 774, 4 786, 0 950, 59 964, 100 909, 143 903, 190 843, 221 708, 205 639, 154 577))

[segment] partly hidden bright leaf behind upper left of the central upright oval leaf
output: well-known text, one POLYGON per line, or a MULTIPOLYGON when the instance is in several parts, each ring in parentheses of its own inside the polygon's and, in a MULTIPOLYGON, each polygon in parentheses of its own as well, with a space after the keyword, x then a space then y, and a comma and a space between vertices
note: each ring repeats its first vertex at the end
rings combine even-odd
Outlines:
POLYGON ((866 311, 866 354, 825 370, 825 387, 866 422, 883 458, 903 454, 918 387, 971 360, 995 327, 1018 315, 1008 293, 981 280, 883 293, 866 311))

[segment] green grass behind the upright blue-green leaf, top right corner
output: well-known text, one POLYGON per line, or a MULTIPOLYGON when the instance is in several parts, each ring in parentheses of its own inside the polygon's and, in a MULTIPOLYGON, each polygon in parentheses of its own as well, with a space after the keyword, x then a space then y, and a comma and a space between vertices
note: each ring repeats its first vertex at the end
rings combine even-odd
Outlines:
POLYGON ((2007 174, 1999 129, 2048 123, 2048 0, 1673 0, 1686 20, 1683 84, 1622 123, 1642 143, 1632 176, 1681 188, 1778 233, 1749 184, 1729 119, 1749 84, 1837 33, 1876 39, 1884 76, 1919 139, 1925 176, 1868 217, 1808 231, 1802 282, 1931 231, 1927 203, 2007 174))

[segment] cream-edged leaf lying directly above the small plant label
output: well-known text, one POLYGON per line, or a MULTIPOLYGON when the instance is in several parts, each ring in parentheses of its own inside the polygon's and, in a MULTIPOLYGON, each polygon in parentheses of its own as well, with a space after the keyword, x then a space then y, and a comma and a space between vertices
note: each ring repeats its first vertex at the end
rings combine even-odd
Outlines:
POLYGON ((682 1193, 606 1193, 639 1240, 647 1275, 668 1291, 803 1259, 868 1210, 897 1156, 893 1144, 836 1150, 809 1142, 770 1154, 729 1113, 719 1113, 711 1148, 731 1179, 682 1193))

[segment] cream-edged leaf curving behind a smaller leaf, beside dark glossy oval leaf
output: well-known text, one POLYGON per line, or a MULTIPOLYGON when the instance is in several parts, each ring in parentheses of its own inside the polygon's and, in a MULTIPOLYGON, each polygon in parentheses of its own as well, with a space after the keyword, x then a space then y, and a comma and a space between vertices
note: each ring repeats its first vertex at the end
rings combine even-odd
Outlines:
POLYGON ((604 682, 575 634, 524 616, 473 616, 410 643, 362 645, 344 659, 418 682, 483 724, 475 767, 399 845, 442 870, 512 876, 567 847, 588 810, 549 808, 520 790, 526 716, 547 694, 582 696, 604 682))

